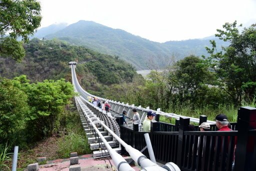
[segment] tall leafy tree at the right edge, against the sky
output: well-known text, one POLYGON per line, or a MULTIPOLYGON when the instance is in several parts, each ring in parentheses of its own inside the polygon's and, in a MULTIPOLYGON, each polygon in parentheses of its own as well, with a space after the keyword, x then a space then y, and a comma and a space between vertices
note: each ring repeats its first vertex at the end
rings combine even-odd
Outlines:
POLYGON ((215 41, 210 41, 212 48, 206 48, 210 56, 204 57, 208 66, 217 74, 219 87, 236 104, 243 97, 253 98, 256 92, 256 25, 252 24, 239 32, 241 26, 236 26, 234 21, 225 23, 224 30, 217 29, 215 36, 230 42, 230 45, 217 51, 215 41))

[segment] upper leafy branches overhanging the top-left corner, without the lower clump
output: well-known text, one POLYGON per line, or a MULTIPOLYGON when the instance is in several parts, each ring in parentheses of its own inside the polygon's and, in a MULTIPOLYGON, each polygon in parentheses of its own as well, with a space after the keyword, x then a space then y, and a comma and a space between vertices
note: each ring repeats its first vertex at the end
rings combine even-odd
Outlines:
POLYGON ((9 33, 11 38, 21 36, 28 40, 40 26, 40 3, 37 0, 1 0, 0 2, 0 35, 9 33))

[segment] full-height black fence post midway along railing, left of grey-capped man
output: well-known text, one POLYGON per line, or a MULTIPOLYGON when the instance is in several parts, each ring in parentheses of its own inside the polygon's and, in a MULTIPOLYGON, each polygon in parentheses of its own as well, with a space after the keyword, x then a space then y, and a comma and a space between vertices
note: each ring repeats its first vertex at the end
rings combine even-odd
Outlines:
POLYGON ((189 117, 179 117, 177 165, 181 168, 184 153, 184 131, 188 130, 189 117))

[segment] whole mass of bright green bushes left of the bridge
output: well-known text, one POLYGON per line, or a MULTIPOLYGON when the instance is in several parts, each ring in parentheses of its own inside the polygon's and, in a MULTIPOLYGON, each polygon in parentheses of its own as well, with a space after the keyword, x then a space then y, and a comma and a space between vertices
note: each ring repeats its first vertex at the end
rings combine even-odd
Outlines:
POLYGON ((60 126, 64 107, 74 95, 64 79, 29 84, 25 75, 0 80, 0 144, 21 148, 27 141, 52 135, 60 126))

